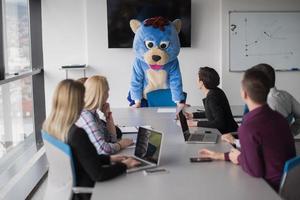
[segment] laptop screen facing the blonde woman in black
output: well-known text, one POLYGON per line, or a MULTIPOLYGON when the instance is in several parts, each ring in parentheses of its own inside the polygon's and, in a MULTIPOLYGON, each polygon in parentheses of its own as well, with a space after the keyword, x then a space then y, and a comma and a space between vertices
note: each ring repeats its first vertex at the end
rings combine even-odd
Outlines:
POLYGON ((158 164, 161 144, 161 133, 140 127, 134 155, 153 164, 158 164))

